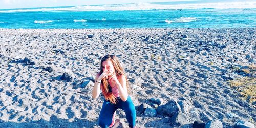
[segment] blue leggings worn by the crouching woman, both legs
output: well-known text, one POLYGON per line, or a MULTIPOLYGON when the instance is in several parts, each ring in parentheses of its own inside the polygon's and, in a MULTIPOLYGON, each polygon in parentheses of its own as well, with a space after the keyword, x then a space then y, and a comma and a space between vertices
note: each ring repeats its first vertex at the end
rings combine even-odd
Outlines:
POLYGON ((119 97, 117 99, 118 102, 116 104, 111 104, 110 101, 104 100, 102 109, 99 114, 99 126, 108 127, 112 123, 114 112, 120 108, 125 112, 129 127, 135 127, 136 110, 131 97, 128 96, 125 102, 122 101, 119 97))

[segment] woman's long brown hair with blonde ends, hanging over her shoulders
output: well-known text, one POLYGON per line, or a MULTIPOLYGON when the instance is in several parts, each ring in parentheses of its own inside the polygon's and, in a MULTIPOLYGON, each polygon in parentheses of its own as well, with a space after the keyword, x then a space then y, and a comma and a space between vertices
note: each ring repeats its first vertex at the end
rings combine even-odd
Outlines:
MULTIPOLYGON (((112 62, 113 66, 114 66, 114 69, 115 69, 115 72, 116 72, 117 78, 121 75, 125 76, 125 78, 126 78, 126 87, 127 87, 127 90, 128 90, 128 79, 127 79, 126 75, 124 74, 124 70, 121 67, 120 63, 119 63, 118 58, 115 55, 105 55, 101 59, 101 61, 100 61, 100 74, 103 72, 102 63, 104 61, 107 61, 107 60, 110 60, 112 62)), ((113 95, 113 93, 111 92, 111 87, 108 84, 108 80, 106 78, 103 78, 101 80, 100 87, 101 87, 101 90, 102 90, 102 93, 103 93, 105 99, 107 101, 110 101, 112 104, 116 104, 117 99, 113 95)))

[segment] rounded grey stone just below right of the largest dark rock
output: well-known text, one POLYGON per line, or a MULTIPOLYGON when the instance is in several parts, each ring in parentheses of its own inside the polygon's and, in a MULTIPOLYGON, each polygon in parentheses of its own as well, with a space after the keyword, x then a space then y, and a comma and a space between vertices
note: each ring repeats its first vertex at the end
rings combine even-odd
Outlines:
POLYGON ((184 113, 177 113, 170 117, 170 126, 182 126, 187 123, 187 116, 184 113))

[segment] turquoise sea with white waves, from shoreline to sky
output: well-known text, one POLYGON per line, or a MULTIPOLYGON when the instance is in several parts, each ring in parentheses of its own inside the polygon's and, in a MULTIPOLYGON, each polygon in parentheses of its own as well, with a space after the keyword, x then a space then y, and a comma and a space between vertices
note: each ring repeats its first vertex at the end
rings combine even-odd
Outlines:
POLYGON ((0 10, 0 28, 256 27, 256 2, 207 1, 0 10))

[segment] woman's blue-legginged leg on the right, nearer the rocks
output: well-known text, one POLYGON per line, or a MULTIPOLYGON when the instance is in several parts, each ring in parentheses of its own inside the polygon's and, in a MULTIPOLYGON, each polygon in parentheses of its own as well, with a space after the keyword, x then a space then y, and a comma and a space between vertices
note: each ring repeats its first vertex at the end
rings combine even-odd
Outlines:
POLYGON ((122 100, 119 101, 119 108, 124 110, 126 119, 128 121, 129 127, 135 127, 135 121, 136 121, 136 110, 135 106, 133 104, 133 101, 130 96, 128 96, 128 99, 123 102, 122 100))

